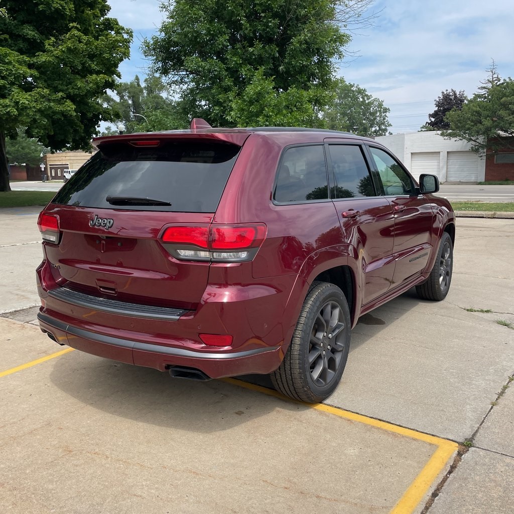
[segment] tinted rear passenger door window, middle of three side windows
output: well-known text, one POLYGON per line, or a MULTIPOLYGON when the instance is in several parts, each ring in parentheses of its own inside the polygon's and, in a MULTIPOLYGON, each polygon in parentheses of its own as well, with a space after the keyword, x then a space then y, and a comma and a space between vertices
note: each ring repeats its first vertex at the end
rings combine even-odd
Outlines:
POLYGON ((334 186, 331 186, 332 198, 376 196, 360 146, 331 144, 329 149, 335 179, 334 186))

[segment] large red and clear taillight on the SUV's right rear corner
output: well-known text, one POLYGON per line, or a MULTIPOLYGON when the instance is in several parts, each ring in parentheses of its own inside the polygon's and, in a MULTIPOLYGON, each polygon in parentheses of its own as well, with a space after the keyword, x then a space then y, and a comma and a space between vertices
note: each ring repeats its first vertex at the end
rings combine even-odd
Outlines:
POLYGON ((251 261, 266 238, 266 225, 198 225, 168 227, 162 242, 182 260, 251 261))

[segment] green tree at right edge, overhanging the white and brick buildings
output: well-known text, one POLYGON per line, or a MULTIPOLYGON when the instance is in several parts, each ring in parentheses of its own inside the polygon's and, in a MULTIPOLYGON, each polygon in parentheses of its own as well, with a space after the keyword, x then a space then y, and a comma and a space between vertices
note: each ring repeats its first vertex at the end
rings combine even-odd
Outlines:
POLYGON ((485 155, 486 150, 514 149, 514 81, 500 79, 495 65, 462 110, 453 109, 445 121, 450 128, 442 132, 446 139, 464 139, 471 150, 485 155), (501 136, 501 138, 499 138, 501 136))

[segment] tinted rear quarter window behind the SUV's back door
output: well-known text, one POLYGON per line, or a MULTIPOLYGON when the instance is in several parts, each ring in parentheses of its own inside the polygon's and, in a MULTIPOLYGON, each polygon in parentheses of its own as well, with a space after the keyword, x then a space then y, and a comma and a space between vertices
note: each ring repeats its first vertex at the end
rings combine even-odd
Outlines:
POLYGON ((293 146, 284 152, 273 198, 281 203, 328 199, 322 145, 293 146))

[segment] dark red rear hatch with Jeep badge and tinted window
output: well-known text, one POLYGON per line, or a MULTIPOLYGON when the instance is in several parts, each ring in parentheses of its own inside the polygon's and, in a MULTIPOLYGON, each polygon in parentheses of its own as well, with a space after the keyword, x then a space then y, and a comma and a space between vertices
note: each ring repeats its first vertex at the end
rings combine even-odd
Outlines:
POLYGON ((56 282, 99 298, 195 309, 210 262, 175 258, 162 236, 170 225, 209 226, 248 135, 100 139, 44 211, 50 225, 57 218, 57 244, 45 244, 56 282))

